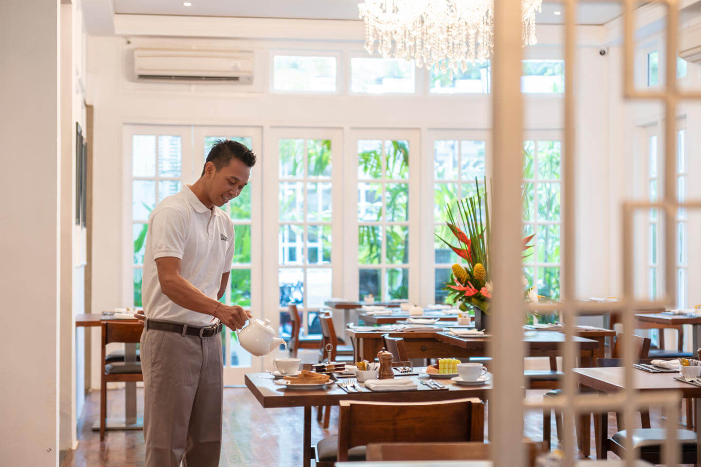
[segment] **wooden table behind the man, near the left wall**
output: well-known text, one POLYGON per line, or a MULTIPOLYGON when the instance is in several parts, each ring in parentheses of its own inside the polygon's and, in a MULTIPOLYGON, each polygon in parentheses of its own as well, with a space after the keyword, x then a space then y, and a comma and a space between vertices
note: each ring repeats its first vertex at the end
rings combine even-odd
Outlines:
MULTIPOLYGON (((76 327, 98 327, 103 321, 134 321, 135 318, 122 318, 107 314, 76 314, 76 327)), ((136 344, 124 344, 125 363, 136 363, 136 344)), ((104 371, 102 368, 101 371, 104 371)), ((144 421, 137 416, 136 403, 136 383, 124 383, 124 419, 108 417, 105 420, 107 430, 141 430, 144 428, 144 421)), ((93 431, 100 431, 100 418, 93 424, 93 431)))

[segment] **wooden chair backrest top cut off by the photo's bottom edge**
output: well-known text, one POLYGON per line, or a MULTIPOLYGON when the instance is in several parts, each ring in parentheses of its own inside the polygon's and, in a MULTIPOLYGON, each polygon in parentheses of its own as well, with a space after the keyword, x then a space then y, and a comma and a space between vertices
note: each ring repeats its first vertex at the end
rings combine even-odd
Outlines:
MULTIPOLYGON (((388 442, 370 443, 367 461, 482 461, 491 459, 489 442, 388 442)), ((543 442, 524 440, 526 466, 533 467, 544 451, 543 442)))

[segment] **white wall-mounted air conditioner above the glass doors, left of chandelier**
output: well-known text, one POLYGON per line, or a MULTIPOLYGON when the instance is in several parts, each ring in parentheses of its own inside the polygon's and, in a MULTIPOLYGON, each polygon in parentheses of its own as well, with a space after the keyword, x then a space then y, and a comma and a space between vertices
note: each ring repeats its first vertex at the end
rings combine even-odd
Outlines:
POLYGON ((252 50, 134 49, 134 80, 158 83, 253 83, 252 50))

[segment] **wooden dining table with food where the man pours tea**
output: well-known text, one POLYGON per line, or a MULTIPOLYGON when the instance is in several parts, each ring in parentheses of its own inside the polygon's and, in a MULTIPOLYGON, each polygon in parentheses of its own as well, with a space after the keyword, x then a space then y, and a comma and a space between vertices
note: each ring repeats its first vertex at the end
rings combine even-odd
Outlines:
POLYGON ((406 376, 416 382, 418 389, 414 391, 370 391, 360 383, 364 391, 346 393, 336 384, 326 390, 299 391, 286 389, 273 383, 270 373, 249 373, 245 375, 246 387, 264 408, 304 407, 304 435, 302 441, 303 467, 311 466, 315 455, 315 447, 311 445, 311 409, 327 405, 339 405, 339 400, 370 400, 376 402, 430 402, 435 400, 450 400, 467 397, 488 398, 491 384, 483 386, 459 386, 450 379, 441 379, 440 383, 448 389, 428 389, 420 384, 426 376, 406 376))

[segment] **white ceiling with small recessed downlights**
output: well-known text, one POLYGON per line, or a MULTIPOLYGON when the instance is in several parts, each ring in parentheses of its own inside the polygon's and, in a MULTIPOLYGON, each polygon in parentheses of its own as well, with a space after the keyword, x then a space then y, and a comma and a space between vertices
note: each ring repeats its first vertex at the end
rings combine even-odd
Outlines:
MULTIPOLYGON (((303 18, 311 20, 359 20, 360 0, 114 0, 114 13, 137 15, 233 16, 243 18, 303 18)), ((559 3, 544 3, 536 16, 540 24, 564 22, 559 3)), ((581 2, 577 8, 580 25, 603 25, 621 14, 618 1, 581 2)))

